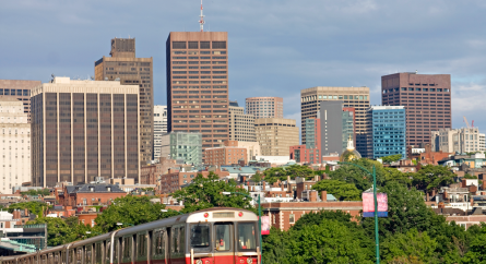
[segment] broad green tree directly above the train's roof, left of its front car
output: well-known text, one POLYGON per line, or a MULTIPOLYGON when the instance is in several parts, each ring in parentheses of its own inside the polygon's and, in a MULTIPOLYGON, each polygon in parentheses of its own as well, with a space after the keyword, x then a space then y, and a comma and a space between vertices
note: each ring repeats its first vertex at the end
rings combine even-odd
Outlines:
POLYGON ((162 212, 162 209, 165 209, 165 205, 152 203, 149 196, 118 197, 96 217, 96 229, 100 232, 109 232, 121 228, 117 223, 137 226, 179 214, 175 211, 162 212))

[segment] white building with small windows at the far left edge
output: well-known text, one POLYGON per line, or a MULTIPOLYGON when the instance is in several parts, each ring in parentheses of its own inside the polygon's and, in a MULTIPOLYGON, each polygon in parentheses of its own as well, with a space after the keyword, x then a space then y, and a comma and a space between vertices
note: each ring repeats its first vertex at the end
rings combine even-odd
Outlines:
POLYGON ((31 124, 23 101, 0 96, 0 192, 31 181, 31 124))

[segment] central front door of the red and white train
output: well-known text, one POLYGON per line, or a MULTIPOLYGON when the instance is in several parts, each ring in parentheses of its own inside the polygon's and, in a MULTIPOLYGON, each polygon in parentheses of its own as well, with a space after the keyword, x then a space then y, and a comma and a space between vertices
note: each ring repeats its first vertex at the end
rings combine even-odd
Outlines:
POLYGON ((235 228, 230 221, 214 223, 214 264, 235 263, 235 228))

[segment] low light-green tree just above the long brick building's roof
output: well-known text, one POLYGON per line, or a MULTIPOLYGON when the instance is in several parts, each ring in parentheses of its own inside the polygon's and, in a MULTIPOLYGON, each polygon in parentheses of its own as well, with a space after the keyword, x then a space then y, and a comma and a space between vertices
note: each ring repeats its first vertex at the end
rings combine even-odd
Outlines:
POLYGON ((312 189, 327 191, 340 201, 360 201, 361 192, 353 184, 340 180, 321 180, 312 185, 312 189))

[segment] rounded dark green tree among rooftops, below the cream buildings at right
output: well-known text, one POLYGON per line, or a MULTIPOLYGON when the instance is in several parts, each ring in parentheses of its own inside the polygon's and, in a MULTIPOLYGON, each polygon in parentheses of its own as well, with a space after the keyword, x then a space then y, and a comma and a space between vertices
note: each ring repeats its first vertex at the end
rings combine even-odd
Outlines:
POLYGON ((418 190, 430 191, 453 183, 455 175, 448 167, 426 165, 412 177, 418 190))

